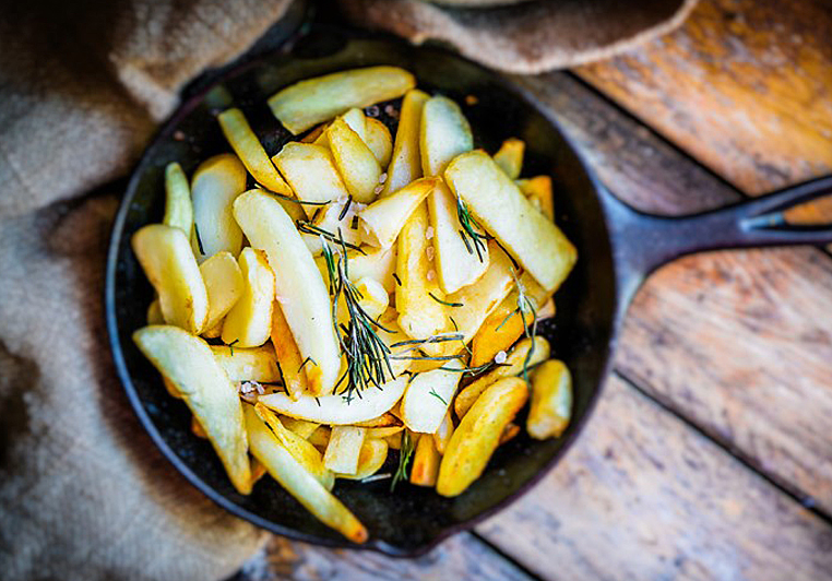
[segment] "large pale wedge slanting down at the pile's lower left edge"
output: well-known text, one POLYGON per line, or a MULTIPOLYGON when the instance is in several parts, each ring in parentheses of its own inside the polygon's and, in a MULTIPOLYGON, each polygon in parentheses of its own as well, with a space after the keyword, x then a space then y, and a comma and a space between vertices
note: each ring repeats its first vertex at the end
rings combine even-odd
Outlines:
MULTIPOLYGON (((185 237, 181 230, 175 232, 185 237)), ((234 487, 240 494, 249 494, 251 466, 237 388, 216 363, 207 344, 169 325, 140 329, 133 333, 133 341, 153 366, 176 386, 207 434, 234 487)))

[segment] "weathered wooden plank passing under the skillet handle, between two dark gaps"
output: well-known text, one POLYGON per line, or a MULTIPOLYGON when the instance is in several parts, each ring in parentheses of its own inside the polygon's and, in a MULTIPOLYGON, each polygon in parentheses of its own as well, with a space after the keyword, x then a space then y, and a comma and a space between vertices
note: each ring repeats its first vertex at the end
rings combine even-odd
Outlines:
MULTIPOLYGON (((573 79, 555 73, 522 83, 629 203, 678 214, 738 199, 573 79)), ((832 513, 832 430, 823 429, 832 398, 823 333, 832 329, 829 264, 823 252, 801 248, 712 252, 668 265, 630 309, 616 363, 644 391, 832 513), (782 331, 772 331, 772 321, 782 331)))

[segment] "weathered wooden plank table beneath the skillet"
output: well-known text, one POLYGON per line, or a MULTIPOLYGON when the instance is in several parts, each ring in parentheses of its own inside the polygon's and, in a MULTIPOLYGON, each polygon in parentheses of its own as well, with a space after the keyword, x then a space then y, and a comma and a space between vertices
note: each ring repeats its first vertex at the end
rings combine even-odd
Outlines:
MULTIPOLYGON (((829 1, 702 0, 638 50, 518 81, 640 209, 832 173, 829 1)), ((832 256, 712 252, 641 289, 596 414, 512 507, 409 561, 274 537, 238 577, 822 580, 831 515, 832 256)))

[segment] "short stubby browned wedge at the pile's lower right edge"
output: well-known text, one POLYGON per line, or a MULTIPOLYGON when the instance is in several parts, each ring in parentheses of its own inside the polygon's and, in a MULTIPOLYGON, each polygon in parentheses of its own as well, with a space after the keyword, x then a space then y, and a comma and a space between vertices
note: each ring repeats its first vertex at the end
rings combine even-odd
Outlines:
POLYGON ((544 361, 532 372, 532 405, 526 431, 536 440, 557 438, 572 417, 572 376, 558 359, 544 361))

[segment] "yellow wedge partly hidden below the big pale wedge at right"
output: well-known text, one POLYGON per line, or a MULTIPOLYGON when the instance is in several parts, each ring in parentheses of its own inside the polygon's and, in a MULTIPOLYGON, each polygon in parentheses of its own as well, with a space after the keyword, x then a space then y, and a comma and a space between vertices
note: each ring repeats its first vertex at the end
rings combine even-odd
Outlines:
POLYGON ((449 321, 453 319, 451 331, 462 334, 462 341, 427 344, 423 347, 426 355, 433 357, 457 353, 460 346, 474 337, 491 311, 511 292, 514 284, 511 260, 494 240, 488 242, 488 252, 490 254, 488 269, 476 284, 465 286, 444 297, 444 300, 451 305, 461 305, 449 307, 448 316, 449 321))

